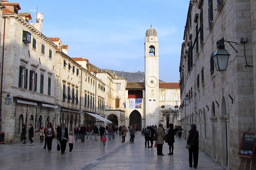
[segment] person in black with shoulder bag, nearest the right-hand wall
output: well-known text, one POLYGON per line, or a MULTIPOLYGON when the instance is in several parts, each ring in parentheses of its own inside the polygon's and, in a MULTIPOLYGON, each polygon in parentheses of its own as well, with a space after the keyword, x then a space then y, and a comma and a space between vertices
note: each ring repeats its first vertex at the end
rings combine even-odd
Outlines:
POLYGON ((199 133, 196 130, 196 125, 190 125, 190 130, 186 134, 187 144, 190 144, 189 149, 189 167, 192 167, 192 163, 194 161, 193 167, 196 169, 198 166, 198 149, 199 149, 199 133))

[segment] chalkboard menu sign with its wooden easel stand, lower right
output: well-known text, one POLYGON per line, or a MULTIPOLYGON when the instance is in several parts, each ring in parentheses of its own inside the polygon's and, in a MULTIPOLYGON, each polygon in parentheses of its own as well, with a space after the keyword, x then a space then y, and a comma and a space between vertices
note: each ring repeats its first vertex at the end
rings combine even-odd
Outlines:
POLYGON ((239 153, 238 153, 238 155, 241 156, 241 160, 239 163, 239 170, 241 168, 243 157, 245 158, 244 170, 246 169, 248 159, 250 159, 250 170, 252 170, 253 156, 256 148, 256 135, 253 132, 249 132, 249 130, 250 128, 248 129, 248 132, 243 133, 243 136, 241 139, 239 153))

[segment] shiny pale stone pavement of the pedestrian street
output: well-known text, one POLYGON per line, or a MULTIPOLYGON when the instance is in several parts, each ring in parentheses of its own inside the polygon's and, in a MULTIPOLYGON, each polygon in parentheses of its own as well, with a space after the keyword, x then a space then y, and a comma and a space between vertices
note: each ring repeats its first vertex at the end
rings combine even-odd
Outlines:
MULTIPOLYGON (((93 136, 94 137, 94 136, 93 136)), ((168 156, 169 146, 163 145, 163 154, 157 156, 157 148, 145 148, 144 136, 137 133, 135 144, 129 144, 129 137, 121 143, 122 137, 106 142, 85 138, 85 142, 76 142, 72 155, 57 151, 57 140, 52 142, 52 153, 45 150, 44 143, 35 141, 35 145, 0 144, 0 170, 193 170, 189 167, 186 140, 175 138, 174 155, 168 156)), ((100 139, 100 136, 98 137, 100 139)), ((108 138, 107 138, 108 139, 108 138)), ((199 170, 224 170, 204 153, 199 152, 199 170)))

